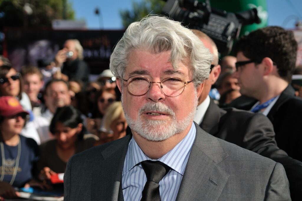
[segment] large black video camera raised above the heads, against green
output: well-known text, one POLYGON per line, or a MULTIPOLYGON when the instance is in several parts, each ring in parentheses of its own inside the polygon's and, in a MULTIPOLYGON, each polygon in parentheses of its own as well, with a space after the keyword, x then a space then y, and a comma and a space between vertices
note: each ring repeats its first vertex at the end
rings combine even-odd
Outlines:
POLYGON ((210 2, 198 0, 164 0, 163 14, 181 21, 190 29, 198 29, 214 40, 222 55, 230 53, 233 41, 238 38, 242 25, 259 24, 257 9, 230 13, 210 7, 210 2))

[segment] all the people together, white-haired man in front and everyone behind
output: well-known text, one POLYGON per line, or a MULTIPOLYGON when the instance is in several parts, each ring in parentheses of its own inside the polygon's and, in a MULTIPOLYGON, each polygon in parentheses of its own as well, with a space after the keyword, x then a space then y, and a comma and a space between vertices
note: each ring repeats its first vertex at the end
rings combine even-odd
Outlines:
POLYGON ((51 180, 65 173, 66 200, 302 198, 291 31, 255 30, 220 60, 200 30, 148 16, 96 80, 82 53, 66 40, 42 70, 0 57, 0 196, 63 188, 51 180), (152 168, 164 172, 157 186, 152 168))

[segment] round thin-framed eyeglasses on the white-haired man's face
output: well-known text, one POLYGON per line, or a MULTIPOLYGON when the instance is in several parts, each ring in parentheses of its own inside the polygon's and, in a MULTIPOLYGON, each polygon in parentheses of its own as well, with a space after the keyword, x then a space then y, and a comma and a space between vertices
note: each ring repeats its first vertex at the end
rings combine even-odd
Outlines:
POLYGON ((169 97, 179 96, 184 91, 185 85, 194 81, 191 80, 185 82, 181 78, 168 77, 160 82, 153 82, 150 81, 149 78, 140 75, 135 75, 127 80, 123 80, 127 82, 128 91, 135 96, 142 96, 146 94, 151 88, 152 83, 159 83, 162 93, 169 97))

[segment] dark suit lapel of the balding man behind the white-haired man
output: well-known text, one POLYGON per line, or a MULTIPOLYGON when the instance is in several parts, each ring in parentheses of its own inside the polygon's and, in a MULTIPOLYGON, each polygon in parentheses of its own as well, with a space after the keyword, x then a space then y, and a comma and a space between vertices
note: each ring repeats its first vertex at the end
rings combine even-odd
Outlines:
POLYGON ((220 117, 225 114, 226 111, 220 109, 213 101, 210 99, 209 107, 207 108, 206 113, 204 114, 204 118, 200 124, 200 127, 204 129, 206 132, 215 136, 219 131, 218 123, 220 117))

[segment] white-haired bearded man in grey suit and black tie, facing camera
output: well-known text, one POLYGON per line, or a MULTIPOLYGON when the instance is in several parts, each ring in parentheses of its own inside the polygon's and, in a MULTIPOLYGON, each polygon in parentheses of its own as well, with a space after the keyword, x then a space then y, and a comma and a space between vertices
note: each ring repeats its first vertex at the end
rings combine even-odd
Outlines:
POLYGON ((280 163, 193 123, 211 62, 180 22, 130 24, 110 69, 132 135, 73 156, 64 200, 290 200, 280 163))

